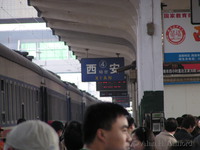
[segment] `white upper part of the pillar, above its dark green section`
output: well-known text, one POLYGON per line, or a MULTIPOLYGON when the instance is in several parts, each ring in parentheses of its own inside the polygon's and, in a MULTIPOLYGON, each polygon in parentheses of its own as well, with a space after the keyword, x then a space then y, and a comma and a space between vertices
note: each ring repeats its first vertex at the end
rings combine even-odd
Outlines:
POLYGON ((138 16, 137 71, 138 101, 144 91, 163 91, 163 54, 160 0, 140 0, 138 16), (153 35, 147 34, 147 24, 153 23, 153 35))

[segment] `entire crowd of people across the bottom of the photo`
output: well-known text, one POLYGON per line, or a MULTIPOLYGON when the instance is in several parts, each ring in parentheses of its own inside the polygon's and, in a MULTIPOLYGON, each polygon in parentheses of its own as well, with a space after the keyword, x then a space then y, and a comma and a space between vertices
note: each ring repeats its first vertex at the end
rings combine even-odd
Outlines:
MULTIPOLYGON (((0 137, 3 129, 0 128, 0 137)), ((155 134, 137 127, 122 106, 103 102, 91 105, 82 123, 19 119, 0 139, 0 150, 198 150, 200 117, 168 118, 155 134)))

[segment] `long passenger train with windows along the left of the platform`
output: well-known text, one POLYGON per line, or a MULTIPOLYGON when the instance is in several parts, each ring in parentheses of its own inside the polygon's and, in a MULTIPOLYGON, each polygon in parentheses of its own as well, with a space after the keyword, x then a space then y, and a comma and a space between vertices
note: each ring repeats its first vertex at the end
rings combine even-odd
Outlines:
POLYGON ((0 44, 0 126, 26 120, 83 120, 87 107, 101 102, 76 85, 0 44))

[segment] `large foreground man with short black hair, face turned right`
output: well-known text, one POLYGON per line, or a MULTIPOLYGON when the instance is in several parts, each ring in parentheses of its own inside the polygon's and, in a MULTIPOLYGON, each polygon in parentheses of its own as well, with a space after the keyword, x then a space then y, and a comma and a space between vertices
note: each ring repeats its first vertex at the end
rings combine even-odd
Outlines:
POLYGON ((89 150, 128 150, 128 112, 109 102, 91 105, 84 116, 84 148, 89 150))

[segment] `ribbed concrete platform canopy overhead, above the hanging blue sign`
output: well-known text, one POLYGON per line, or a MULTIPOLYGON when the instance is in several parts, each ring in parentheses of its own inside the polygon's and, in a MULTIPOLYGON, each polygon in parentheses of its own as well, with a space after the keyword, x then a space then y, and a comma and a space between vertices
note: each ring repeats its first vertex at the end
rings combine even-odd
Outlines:
MULTIPOLYGON (((141 0, 28 0, 77 58, 136 60, 141 0)), ((163 11, 190 9, 190 0, 161 0, 163 11)))

